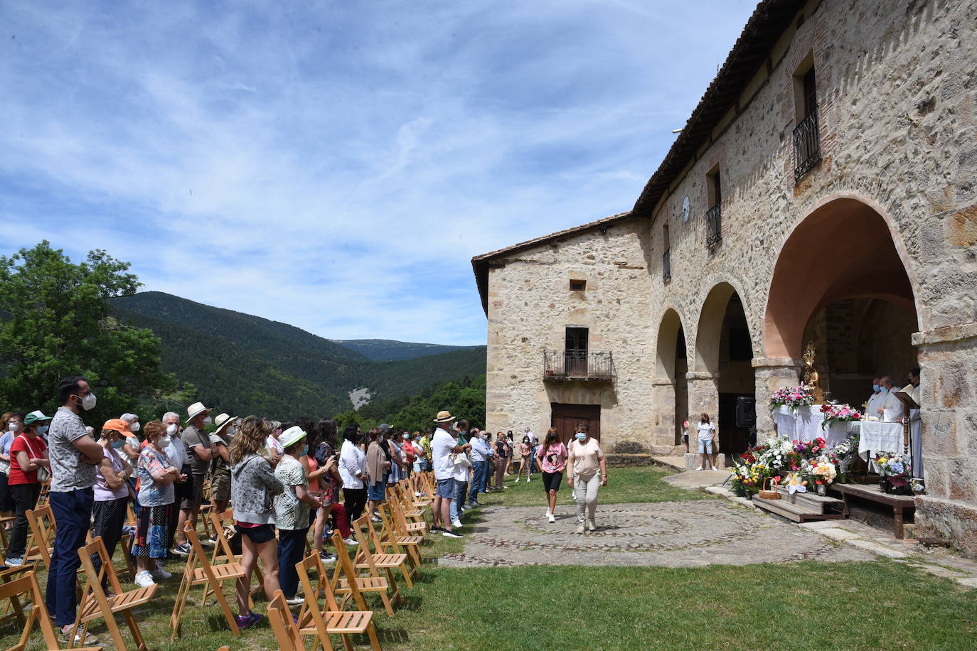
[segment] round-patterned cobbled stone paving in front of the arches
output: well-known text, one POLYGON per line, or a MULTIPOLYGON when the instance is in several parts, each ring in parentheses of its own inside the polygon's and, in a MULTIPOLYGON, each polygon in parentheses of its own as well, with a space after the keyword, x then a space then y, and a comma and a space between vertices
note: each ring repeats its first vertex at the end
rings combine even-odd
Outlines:
MULTIPOLYGON (((718 474, 718 473, 717 473, 718 474)), ((814 531, 725 500, 599 506, 597 531, 575 533, 573 507, 483 507, 466 525, 465 549, 439 563, 492 565, 661 565, 871 560, 866 550, 840 545, 814 531)))

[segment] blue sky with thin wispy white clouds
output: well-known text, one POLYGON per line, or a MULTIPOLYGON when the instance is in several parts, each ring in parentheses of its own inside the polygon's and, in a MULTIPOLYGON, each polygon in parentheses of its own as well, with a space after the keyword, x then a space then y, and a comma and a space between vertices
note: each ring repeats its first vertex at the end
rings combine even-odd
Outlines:
POLYGON ((753 1, 0 4, 0 253, 484 344, 472 256, 629 209, 753 1))

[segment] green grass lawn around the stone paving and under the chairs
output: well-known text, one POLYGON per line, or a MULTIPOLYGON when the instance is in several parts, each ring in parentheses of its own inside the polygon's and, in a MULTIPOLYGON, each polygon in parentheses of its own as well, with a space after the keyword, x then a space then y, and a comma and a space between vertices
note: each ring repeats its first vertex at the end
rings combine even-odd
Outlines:
MULTIPOLYGON (((661 484, 663 475, 655 468, 616 469, 602 501, 668 499, 680 489, 661 484), (615 488, 619 492, 612 493, 615 488)), ((685 491, 675 495, 700 497, 685 491)), ((543 504, 541 483, 535 481, 485 498, 487 504, 543 504)), ((974 648, 977 635, 977 590, 891 560, 692 569, 455 569, 439 568, 433 560, 460 550, 462 542, 429 539, 421 579, 403 590, 396 616, 375 605, 385 648, 966 649, 974 648)), ((174 571, 172 563, 168 569, 174 571)), ((175 576, 139 613, 150 648, 277 648, 267 624, 235 638, 216 606, 200 607, 200 590, 191 593, 195 601, 183 637, 171 642, 168 620, 178 585, 175 576)), ((230 588, 226 592, 234 598, 230 588)), ((259 602, 257 610, 264 604, 259 602)), ((104 631, 102 624, 93 629, 106 639, 104 631)), ((0 628, 0 647, 15 638, 13 627, 0 628)), ((39 634, 32 641, 30 648, 41 648, 39 634)))

